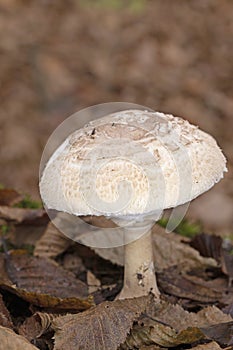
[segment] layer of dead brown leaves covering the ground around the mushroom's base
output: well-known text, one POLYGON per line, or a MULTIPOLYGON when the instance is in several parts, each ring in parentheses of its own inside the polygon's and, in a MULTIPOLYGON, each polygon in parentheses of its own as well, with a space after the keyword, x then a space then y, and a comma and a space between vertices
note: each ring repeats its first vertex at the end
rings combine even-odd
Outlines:
POLYGON ((161 301, 152 296, 107 301, 122 285, 122 248, 93 252, 71 243, 47 219, 41 221, 43 210, 15 208, 19 200, 16 191, 2 192, 2 199, 0 191, 0 224, 13 228, 10 234, 1 230, 0 332, 5 342, 17 344, 12 350, 230 349, 230 241, 207 234, 189 239, 156 225, 153 247, 161 301), (42 230, 39 239, 33 238, 32 255, 19 248, 27 227, 33 230, 37 223, 42 230), (18 225, 22 229, 14 230, 18 225), (12 308, 22 307, 20 300, 27 307, 15 313, 12 308))

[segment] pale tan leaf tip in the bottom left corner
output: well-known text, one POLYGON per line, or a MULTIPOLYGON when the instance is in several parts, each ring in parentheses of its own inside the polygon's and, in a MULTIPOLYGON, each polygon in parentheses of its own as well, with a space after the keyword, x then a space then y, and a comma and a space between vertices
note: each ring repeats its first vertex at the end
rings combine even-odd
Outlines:
POLYGON ((9 328, 0 326, 0 350, 38 350, 27 339, 16 334, 9 328))

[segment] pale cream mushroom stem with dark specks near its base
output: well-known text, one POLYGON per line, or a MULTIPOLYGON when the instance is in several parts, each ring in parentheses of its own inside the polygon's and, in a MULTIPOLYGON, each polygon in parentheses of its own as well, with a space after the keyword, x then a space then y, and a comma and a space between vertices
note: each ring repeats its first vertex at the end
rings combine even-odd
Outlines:
MULTIPOLYGON (((127 229, 125 233, 135 234, 127 229), (130 231, 130 232, 129 232, 130 231)), ((151 230, 142 237, 125 245, 125 270, 124 286, 118 295, 118 299, 126 299, 148 295, 152 292, 159 298, 160 292, 157 287, 151 230)))

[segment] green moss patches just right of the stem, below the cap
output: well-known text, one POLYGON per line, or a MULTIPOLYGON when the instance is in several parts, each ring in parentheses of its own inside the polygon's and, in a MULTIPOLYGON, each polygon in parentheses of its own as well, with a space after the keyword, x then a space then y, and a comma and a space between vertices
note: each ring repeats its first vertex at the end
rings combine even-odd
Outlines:
MULTIPOLYGON (((158 221, 158 224, 162 227, 166 227, 168 223, 168 218, 162 218, 158 221)), ((175 232, 184 237, 192 238, 198 233, 201 233, 202 227, 199 223, 190 223, 187 219, 181 221, 179 225, 175 228, 175 232)))

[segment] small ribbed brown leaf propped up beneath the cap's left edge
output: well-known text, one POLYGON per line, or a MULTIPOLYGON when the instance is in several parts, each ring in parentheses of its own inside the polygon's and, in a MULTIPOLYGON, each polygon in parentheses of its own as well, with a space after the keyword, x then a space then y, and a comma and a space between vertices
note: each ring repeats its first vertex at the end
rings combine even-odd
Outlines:
POLYGON ((52 222, 49 222, 44 234, 35 245, 34 255, 41 258, 55 258, 70 244, 71 240, 64 236, 52 222))

